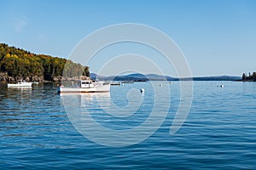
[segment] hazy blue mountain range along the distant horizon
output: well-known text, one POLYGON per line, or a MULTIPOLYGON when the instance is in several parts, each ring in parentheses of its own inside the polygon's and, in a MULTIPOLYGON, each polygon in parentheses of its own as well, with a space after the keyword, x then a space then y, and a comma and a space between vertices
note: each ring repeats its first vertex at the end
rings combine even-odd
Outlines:
MULTIPOLYGON (((90 77, 94 80, 102 81, 178 81, 177 77, 168 77, 157 74, 143 75, 139 73, 125 75, 125 76, 99 76, 95 73, 91 73, 90 77)), ((182 81, 189 81, 191 78, 181 78, 182 81)), ((237 81, 241 80, 241 77, 230 77, 230 76, 220 76, 220 77, 193 77, 194 81, 237 81)))

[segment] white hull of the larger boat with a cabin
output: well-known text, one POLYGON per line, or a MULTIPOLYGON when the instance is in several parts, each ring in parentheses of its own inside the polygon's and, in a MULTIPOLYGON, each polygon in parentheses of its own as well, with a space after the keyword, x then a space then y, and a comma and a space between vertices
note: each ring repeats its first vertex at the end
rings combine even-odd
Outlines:
POLYGON ((96 86, 91 88, 65 88, 59 87, 58 93, 102 93, 109 92, 110 84, 104 84, 102 86, 96 86))

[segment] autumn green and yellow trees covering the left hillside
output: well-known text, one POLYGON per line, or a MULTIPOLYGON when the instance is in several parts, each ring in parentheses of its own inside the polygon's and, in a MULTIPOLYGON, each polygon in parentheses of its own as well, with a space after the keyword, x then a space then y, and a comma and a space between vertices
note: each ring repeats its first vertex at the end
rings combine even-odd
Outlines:
POLYGON ((7 72, 9 77, 44 77, 47 81, 62 76, 90 77, 88 66, 74 63, 70 59, 32 54, 5 43, 0 43, 0 72, 7 72))

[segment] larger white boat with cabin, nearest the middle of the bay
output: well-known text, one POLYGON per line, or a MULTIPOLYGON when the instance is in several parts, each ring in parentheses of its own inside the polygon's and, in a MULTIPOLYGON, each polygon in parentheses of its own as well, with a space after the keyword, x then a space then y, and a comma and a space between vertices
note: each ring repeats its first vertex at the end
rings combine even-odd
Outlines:
POLYGON ((102 93, 109 92, 110 83, 92 82, 90 80, 79 81, 79 86, 75 88, 59 87, 58 93, 102 93))

